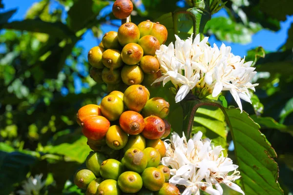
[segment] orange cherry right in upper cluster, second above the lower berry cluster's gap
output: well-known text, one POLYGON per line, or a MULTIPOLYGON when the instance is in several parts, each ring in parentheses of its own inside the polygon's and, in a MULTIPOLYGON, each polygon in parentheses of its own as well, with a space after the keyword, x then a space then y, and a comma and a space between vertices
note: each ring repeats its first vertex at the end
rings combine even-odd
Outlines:
POLYGON ((159 40, 151 35, 146 35, 139 39, 138 44, 143 48, 144 55, 154 56, 156 51, 160 49, 159 40))

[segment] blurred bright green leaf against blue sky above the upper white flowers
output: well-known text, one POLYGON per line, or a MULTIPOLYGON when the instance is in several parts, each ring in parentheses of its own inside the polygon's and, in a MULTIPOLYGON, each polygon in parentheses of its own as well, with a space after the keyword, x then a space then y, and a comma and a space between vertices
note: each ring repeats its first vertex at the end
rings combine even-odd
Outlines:
POLYGON ((214 34, 219 40, 241 44, 250 43, 251 36, 258 30, 260 29, 252 31, 243 24, 236 23, 225 17, 212 18, 205 27, 205 33, 214 34))

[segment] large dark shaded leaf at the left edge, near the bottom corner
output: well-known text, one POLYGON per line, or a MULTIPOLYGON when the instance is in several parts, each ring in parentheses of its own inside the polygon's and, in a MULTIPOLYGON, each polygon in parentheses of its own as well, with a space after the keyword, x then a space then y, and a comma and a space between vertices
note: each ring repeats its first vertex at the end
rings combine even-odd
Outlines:
POLYGON ((12 148, 4 143, 1 143, 0 149, 0 189, 1 194, 6 195, 13 191, 13 184, 26 178, 37 158, 21 152, 12 152, 12 148))

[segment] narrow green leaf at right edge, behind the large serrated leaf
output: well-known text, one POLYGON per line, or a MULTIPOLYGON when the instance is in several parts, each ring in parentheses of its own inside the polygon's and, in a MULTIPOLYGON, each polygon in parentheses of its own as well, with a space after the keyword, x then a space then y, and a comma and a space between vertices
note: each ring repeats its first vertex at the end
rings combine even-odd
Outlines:
POLYGON ((286 126, 278 123, 272 117, 257 117, 252 115, 251 118, 257 122, 261 127, 266 129, 277 129, 284 133, 289 133, 293 136, 293 126, 286 126))

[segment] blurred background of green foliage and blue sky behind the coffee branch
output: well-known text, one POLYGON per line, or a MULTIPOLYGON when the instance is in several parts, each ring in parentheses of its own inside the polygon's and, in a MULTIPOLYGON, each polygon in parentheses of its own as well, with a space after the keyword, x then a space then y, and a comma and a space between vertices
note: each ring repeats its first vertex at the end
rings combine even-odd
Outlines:
MULTIPOLYGON (((133 2, 136 24, 188 7, 183 0, 133 2)), ((0 0, 1 195, 17 194, 23 180, 41 173, 46 182, 41 194, 82 194, 72 176, 90 150, 75 115, 107 93, 104 84, 89 77, 86 54, 105 32, 117 31, 120 20, 111 13, 112 3, 0 0)), ((292 15, 292 0, 229 0, 205 29, 210 44, 224 42, 235 55, 256 62, 254 81, 260 85, 244 110, 278 154, 285 194, 293 192, 292 15)), ((183 39, 190 36, 191 23, 183 16, 181 20, 183 39)), ((170 42, 174 35, 168 30, 170 42)), ((200 122, 196 126, 209 131, 200 122)), ((226 141, 233 156, 229 134, 226 141)))

